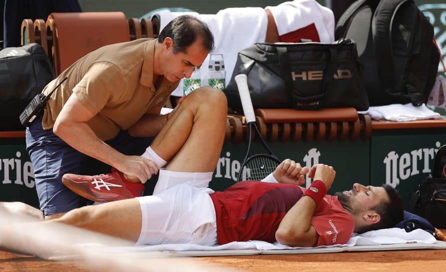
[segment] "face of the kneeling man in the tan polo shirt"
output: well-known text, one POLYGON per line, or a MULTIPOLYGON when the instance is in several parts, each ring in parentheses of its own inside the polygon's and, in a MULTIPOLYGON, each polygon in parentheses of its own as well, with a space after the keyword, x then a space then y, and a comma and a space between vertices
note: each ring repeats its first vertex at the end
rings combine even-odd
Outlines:
MULTIPOLYGON (((167 42, 172 41, 170 38, 167 39, 169 39, 167 42)), ((167 46, 164 45, 164 48, 165 58, 161 64, 161 72, 170 82, 179 81, 182 78, 190 78, 195 66, 201 66, 208 53, 201 44, 201 38, 198 38, 187 47, 185 53, 177 52, 173 54, 173 42, 167 44, 167 46)))

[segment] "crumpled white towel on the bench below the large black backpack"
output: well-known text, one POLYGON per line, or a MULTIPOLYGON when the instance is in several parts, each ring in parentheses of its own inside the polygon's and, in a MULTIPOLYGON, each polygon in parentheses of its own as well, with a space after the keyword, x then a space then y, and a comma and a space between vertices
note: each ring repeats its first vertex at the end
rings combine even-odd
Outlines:
POLYGON ((426 105, 415 107, 411 103, 372 106, 367 111, 358 111, 358 113, 369 114, 375 120, 398 122, 440 118, 439 113, 428 109, 426 105))

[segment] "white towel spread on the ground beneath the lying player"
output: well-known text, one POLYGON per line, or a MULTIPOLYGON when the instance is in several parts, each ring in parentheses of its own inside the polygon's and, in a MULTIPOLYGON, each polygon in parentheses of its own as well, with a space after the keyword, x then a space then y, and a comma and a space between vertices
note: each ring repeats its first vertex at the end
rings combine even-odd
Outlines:
MULTIPOLYGON (((367 231, 361 234, 353 233, 352 237, 345 244, 322 245, 319 247, 354 246, 354 245, 379 245, 396 243, 436 243, 436 239, 427 231, 415 229, 406 232, 402 228, 387 228, 367 231)), ((269 243, 265 241, 231 242, 222 245, 205 246, 198 244, 160 244, 160 245, 140 245, 140 250, 145 251, 184 251, 184 250, 226 250, 226 249, 297 249, 305 248, 298 246, 287 246, 278 242, 269 243)), ((313 247, 310 247, 313 248, 313 247)))

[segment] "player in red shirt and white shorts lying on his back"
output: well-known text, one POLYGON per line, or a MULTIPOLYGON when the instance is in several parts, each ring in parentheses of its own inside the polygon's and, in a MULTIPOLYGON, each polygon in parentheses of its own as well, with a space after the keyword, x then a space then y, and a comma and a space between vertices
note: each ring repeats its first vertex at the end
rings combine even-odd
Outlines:
MULTIPOLYGON (((355 183, 351 190, 326 195, 336 174, 333 167, 308 169, 290 159, 264 182, 243 181, 214 192, 207 186, 224 141, 226 105, 225 95, 214 90, 194 91, 184 99, 151 145, 167 161, 154 195, 74 209, 51 221, 136 244, 264 240, 319 246, 342 244, 353 231, 392 227, 403 219, 401 199, 392 187, 355 183), (314 178, 308 189, 299 186, 305 174, 314 178)), ((91 182, 88 176, 65 178, 91 182)))

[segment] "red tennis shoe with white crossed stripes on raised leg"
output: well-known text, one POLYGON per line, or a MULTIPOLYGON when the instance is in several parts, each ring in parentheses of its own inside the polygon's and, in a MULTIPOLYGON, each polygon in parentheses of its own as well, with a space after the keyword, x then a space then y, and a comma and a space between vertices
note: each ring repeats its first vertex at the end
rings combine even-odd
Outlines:
POLYGON ((96 202, 109 202, 141 196, 144 185, 127 181, 116 169, 111 173, 95 176, 65 174, 62 182, 70 190, 96 202))

